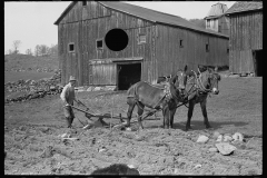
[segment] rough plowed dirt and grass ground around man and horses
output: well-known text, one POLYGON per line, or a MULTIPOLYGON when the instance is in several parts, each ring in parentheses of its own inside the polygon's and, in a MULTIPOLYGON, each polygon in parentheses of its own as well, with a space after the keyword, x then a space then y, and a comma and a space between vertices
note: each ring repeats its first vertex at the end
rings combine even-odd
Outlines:
MULTIPOLYGON (((208 98, 207 111, 212 130, 206 130, 199 105, 191 127, 185 131, 187 108, 175 116, 175 128, 162 129, 160 120, 144 121, 145 130, 113 130, 96 127, 82 130, 75 119, 79 140, 62 141, 67 131, 59 96, 4 106, 4 175, 90 175, 111 164, 131 164, 141 175, 261 175, 263 172, 263 79, 222 78, 220 93, 208 98), (241 132, 245 142, 235 145, 233 155, 210 152, 220 134, 241 132), (196 142, 199 135, 207 144, 196 142)), ((78 92, 77 97, 98 112, 126 116, 126 92, 78 92)), ((75 111, 86 122, 85 113, 75 111)), ((97 120, 97 118, 92 118, 97 120)), ((154 116, 150 119, 155 119, 154 116)), ((131 121, 134 121, 132 119, 131 121)), ((105 119, 118 123, 117 119, 105 119)))

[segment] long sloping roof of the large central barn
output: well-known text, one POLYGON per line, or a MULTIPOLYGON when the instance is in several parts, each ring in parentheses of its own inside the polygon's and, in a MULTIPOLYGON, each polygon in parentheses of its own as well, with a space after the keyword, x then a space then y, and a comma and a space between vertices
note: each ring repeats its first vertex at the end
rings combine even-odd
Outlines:
MULTIPOLYGON (((55 24, 59 24, 60 20, 68 13, 68 11, 76 4, 76 2, 77 1, 72 1, 69 4, 69 7, 62 12, 62 14, 55 22, 55 24)), ((117 1, 117 2, 116 1, 98 1, 98 2, 107 8, 110 8, 110 9, 113 9, 113 10, 117 10, 117 11, 120 11, 120 12, 123 12, 123 13, 127 13, 130 16, 135 16, 135 17, 145 19, 145 20, 148 20, 151 22, 164 23, 164 24, 168 24, 168 26, 176 26, 176 27, 181 27, 181 28, 186 28, 186 29, 190 29, 194 31, 199 31, 199 32, 204 32, 204 33, 208 33, 208 34, 229 38, 226 34, 197 27, 195 23, 192 23, 186 19, 182 19, 178 16, 172 16, 172 14, 168 14, 168 13, 164 13, 164 12, 159 12, 156 10, 134 6, 130 3, 123 3, 123 2, 119 2, 119 1, 117 1)))

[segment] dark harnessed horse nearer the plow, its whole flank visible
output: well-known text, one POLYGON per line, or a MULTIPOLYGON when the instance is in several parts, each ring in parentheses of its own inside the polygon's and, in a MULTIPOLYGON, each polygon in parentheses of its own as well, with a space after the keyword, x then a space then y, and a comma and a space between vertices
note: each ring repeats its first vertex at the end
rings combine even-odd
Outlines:
POLYGON ((182 100, 180 93, 181 90, 185 89, 186 85, 186 70, 187 66, 184 70, 179 70, 176 75, 174 75, 164 86, 152 86, 145 81, 139 81, 131 86, 127 91, 127 103, 129 105, 129 108, 126 126, 130 126, 131 113, 137 105, 139 128, 144 129, 141 115, 145 107, 156 110, 162 109, 164 127, 169 128, 170 125, 172 128, 174 116, 177 109, 176 106, 180 102, 180 100, 182 100))

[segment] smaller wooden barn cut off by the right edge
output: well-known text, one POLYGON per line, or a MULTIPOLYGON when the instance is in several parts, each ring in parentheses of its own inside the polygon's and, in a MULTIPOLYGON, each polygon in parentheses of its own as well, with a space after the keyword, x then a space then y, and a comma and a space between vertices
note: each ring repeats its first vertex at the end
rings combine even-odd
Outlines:
POLYGON ((226 11, 230 19, 229 70, 263 75, 263 2, 236 2, 226 11))

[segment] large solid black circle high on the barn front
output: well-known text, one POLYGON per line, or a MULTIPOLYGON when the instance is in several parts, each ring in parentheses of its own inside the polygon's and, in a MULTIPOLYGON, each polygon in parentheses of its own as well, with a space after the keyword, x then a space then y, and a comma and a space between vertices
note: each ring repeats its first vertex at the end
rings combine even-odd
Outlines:
POLYGON ((106 46, 112 51, 121 51, 128 46, 128 34, 122 29, 111 29, 105 37, 106 46))

